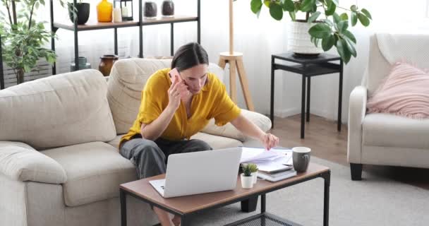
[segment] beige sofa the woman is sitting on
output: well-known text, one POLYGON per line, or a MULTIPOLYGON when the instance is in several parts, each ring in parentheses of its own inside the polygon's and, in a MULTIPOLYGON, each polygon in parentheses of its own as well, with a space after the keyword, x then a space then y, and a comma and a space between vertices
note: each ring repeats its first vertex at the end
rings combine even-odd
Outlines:
MULTIPOLYGON (((83 70, 0 90, 0 225, 120 224, 119 184, 136 179, 118 153, 133 123, 147 78, 169 60, 117 61, 109 81, 83 70)), ((210 65, 222 76, 222 70, 210 65)), ((264 131, 271 122, 243 111, 264 131)), ((214 148, 246 145, 231 124, 207 125, 200 138, 214 148)), ((157 223, 148 206, 129 197, 128 225, 157 223)))

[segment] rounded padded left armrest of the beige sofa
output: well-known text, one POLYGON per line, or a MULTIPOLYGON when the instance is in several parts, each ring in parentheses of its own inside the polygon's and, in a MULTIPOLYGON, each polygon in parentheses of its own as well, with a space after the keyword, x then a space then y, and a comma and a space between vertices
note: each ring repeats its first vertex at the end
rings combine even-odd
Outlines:
POLYGON ((22 182, 67 181, 66 172, 58 162, 20 142, 0 141, 0 173, 22 182))

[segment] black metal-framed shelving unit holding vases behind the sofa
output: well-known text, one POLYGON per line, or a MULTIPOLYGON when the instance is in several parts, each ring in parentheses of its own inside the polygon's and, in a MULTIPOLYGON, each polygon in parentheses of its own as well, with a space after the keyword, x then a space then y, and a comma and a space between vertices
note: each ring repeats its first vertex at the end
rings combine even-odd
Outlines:
MULTIPOLYGON (((100 30, 100 29, 114 29, 114 54, 118 54, 118 28, 129 28, 129 27, 138 27, 139 28, 139 54, 138 57, 143 58, 143 26, 146 25, 159 25, 159 24, 170 24, 170 53, 171 56, 174 54, 174 23, 184 23, 184 22, 197 22, 197 42, 200 43, 201 35, 201 7, 200 0, 197 0, 198 12, 197 16, 173 16, 173 17, 162 17, 156 19, 145 19, 143 18, 142 13, 142 0, 138 0, 138 20, 133 21, 123 21, 120 23, 86 23, 85 25, 78 25, 77 20, 74 23, 56 23, 54 22, 54 6, 53 0, 50 0, 50 20, 51 20, 51 30, 56 32, 59 28, 65 30, 71 30, 74 33, 74 49, 75 49, 75 62, 78 62, 79 49, 78 49, 78 32, 86 30, 100 30)), ((73 3, 76 4, 77 0, 73 0, 73 3)), ((1 43, 1 42, 0 42, 1 43)), ((55 51, 55 40, 51 40, 51 48, 55 51)), ((75 64, 76 71, 79 70, 79 64, 75 64)), ((56 74, 56 64, 52 67, 52 74, 56 74)))

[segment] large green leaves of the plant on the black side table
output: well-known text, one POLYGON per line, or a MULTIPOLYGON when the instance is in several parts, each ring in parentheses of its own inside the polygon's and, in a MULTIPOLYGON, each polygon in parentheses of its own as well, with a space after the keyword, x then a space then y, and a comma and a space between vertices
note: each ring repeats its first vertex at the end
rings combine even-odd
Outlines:
POLYGON ((275 20, 282 20, 288 13, 291 20, 305 23, 315 23, 308 33, 311 42, 316 46, 322 45, 324 51, 332 47, 347 64, 351 56, 356 57, 356 37, 349 30, 349 22, 354 26, 358 21, 365 27, 370 25, 371 14, 365 8, 356 5, 350 8, 340 7, 339 0, 251 0, 250 9, 259 16, 262 6, 270 9, 270 15, 275 20), (337 11, 343 11, 341 14, 337 11), (304 20, 297 20, 298 13, 305 14, 304 20))

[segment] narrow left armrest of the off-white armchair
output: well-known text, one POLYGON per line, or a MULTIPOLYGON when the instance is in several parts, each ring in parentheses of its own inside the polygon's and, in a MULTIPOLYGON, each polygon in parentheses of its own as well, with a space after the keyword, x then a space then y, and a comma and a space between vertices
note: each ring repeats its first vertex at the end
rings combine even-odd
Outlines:
POLYGON ((367 88, 357 86, 350 93, 349 100, 349 135, 347 142, 347 160, 361 163, 362 121, 365 117, 367 88))

